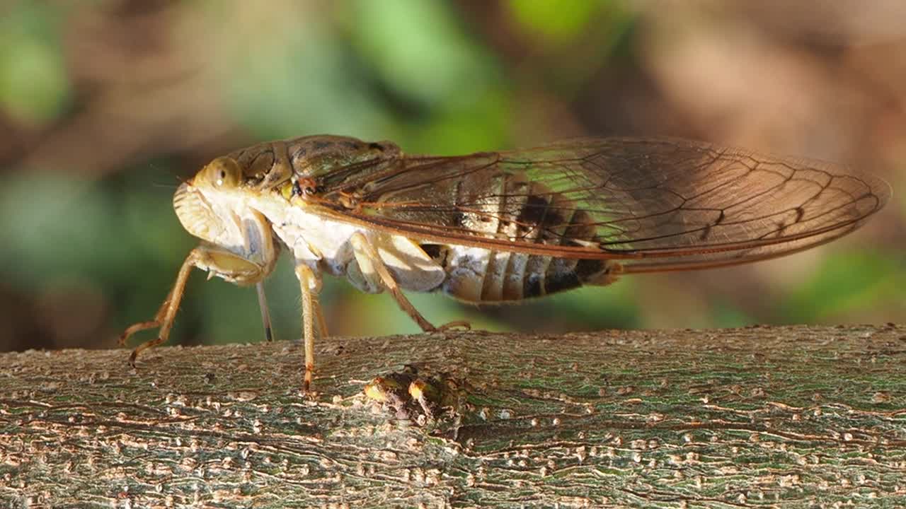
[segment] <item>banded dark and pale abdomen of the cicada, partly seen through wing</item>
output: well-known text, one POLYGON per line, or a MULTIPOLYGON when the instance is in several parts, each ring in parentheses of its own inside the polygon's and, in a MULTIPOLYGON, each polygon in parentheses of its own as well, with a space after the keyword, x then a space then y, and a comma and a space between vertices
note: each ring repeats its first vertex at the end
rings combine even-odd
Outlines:
MULTIPOLYGON (((536 244, 582 245, 594 243, 593 218, 573 201, 522 173, 501 173, 482 184, 497 193, 471 197, 467 182, 458 183, 459 208, 453 227, 482 231, 489 236, 522 238, 536 244)), ((620 264, 608 260, 585 260, 531 255, 462 245, 422 245, 426 253, 447 271, 441 291, 471 303, 500 303, 540 297, 570 290, 583 284, 604 285, 616 280, 620 264)))

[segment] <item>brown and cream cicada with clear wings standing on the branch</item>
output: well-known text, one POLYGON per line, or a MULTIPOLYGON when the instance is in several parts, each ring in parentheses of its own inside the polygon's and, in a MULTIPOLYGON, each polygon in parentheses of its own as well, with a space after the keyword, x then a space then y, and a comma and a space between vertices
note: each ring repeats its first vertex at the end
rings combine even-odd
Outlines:
POLYGON ((193 267, 262 282, 281 250, 302 293, 304 389, 326 335, 322 275, 387 292, 424 331, 404 290, 503 303, 621 274, 701 269, 802 251, 852 232, 891 188, 831 163, 699 141, 572 139, 535 149, 410 156, 389 142, 306 136, 215 158, 173 206, 201 239, 179 269, 140 351, 167 341, 193 267))

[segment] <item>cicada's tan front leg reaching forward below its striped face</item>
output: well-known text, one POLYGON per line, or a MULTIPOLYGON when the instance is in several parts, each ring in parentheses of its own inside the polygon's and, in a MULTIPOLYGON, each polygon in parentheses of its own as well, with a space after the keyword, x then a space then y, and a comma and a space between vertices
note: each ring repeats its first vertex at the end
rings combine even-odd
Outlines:
POLYGON ((194 267, 207 270, 209 274, 222 277, 226 281, 244 284, 258 283, 268 273, 267 264, 246 259, 214 245, 199 245, 193 249, 179 268, 176 283, 173 284, 173 288, 164 302, 160 304, 160 309, 154 315, 154 319, 130 325, 120 334, 120 345, 125 346, 126 341, 132 334, 148 329, 159 329, 157 338, 141 343, 132 351, 129 357, 131 366, 135 366, 135 360, 141 351, 153 348, 169 338, 169 332, 173 327, 173 321, 176 319, 179 303, 182 301, 182 295, 186 290, 188 274, 194 267))

